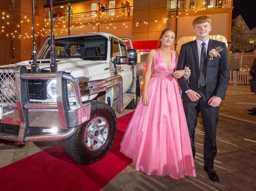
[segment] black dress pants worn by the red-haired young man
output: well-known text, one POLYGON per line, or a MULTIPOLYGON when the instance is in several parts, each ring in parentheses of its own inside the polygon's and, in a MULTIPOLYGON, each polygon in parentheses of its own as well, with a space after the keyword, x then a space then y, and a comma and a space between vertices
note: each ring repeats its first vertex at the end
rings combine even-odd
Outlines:
POLYGON ((183 100, 192 152, 195 158, 195 127, 197 126, 198 114, 201 112, 205 133, 204 165, 213 167, 213 159, 217 154, 216 127, 219 120, 219 107, 211 107, 208 105, 205 88, 199 88, 198 93, 201 98, 195 102, 183 100))

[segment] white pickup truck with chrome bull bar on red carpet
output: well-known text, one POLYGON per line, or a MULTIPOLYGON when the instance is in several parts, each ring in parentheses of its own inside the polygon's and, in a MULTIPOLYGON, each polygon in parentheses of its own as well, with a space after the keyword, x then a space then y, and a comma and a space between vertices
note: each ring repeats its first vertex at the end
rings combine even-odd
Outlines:
POLYGON ((55 52, 56 73, 50 72, 50 37, 37 51, 37 73, 32 60, 0 67, 0 138, 20 144, 62 139, 70 158, 92 164, 115 140, 113 105, 119 113, 136 107, 142 64, 129 38, 108 33, 55 38, 55 52), (70 56, 70 44, 78 56, 70 56))

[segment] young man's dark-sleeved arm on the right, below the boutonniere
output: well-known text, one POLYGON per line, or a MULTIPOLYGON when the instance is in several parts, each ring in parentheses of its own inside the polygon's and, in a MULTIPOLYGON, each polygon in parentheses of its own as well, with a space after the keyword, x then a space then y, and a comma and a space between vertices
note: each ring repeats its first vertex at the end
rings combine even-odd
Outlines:
POLYGON ((229 64, 228 64, 228 50, 226 44, 223 44, 223 51, 220 52, 221 58, 219 63, 219 74, 217 79, 217 86, 213 95, 222 99, 225 98, 228 87, 229 64))

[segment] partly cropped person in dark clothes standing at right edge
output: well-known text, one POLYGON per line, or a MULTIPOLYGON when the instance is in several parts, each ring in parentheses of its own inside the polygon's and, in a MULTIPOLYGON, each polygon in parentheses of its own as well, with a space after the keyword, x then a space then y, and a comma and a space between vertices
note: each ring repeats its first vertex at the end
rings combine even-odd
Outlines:
MULTIPOLYGON (((254 55, 256 55, 256 45, 253 48, 254 55)), ((248 75, 248 79, 250 80, 250 91, 254 92, 256 95, 256 58, 254 58, 254 62, 252 67, 250 68, 248 75)), ((252 107, 252 109, 247 109, 250 111, 249 115, 256 115, 256 106, 252 107)))

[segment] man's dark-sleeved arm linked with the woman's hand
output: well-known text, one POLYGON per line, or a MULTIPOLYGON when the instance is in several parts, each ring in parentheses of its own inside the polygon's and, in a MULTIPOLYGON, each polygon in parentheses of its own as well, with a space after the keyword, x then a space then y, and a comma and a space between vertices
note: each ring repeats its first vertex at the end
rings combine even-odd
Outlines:
MULTIPOLYGON (((182 70, 184 69, 185 65, 186 65, 186 61, 185 61, 185 49, 184 46, 181 46, 180 49, 180 56, 178 58, 178 64, 176 67, 176 70, 182 70)), ((178 79, 178 82, 180 84, 180 88, 182 89, 183 92, 186 92, 187 90, 191 89, 189 87, 189 84, 187 83, 187 80, 184 77, 181 77, 178 79)))

